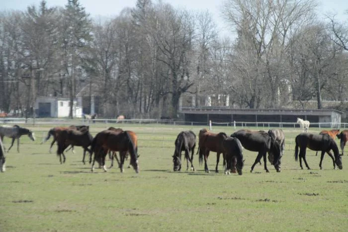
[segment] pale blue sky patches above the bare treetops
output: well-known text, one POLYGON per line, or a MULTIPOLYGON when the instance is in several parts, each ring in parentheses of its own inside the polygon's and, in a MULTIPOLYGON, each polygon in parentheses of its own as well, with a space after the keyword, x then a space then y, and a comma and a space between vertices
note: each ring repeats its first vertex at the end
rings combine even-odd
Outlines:
MULTIPOLYGON (((39 5, 41 0, 0 0, 0 10, 26 10, 28 5, 39 5)), ((156 2, 156 0, 152 0, 156 2)), ((226 23, 221 18, 220 6, 223 0, 162 0, 169 2, 174 7, 186 8, 195 11, 211 12, 215 23, 217 24, 220 34, 228 35, 229 30, 226 23)), ((48 6, 64 6, 68 0, 46 0, 48 6)), ((134 7, 136 0, 80 0, 87 13, 92 17, 112 17, 120 13, 124 7, 134 7)), ((337 19, 348 21, 348 0, 318 0, 318 13, 323 14, 333 12, 337 14, 337 19)))

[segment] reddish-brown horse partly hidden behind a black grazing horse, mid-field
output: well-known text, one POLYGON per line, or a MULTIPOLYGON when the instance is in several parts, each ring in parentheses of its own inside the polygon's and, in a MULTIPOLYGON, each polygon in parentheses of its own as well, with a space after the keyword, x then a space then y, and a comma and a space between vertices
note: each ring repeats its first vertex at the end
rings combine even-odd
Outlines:
POLYGON ((220 154, 222 153, 225 165, 225 153, 222 147, 222 141, 227 137, 227 134, 220 132, 218 134, 208 131, 206 128, 201 129, 198 135, 198 150, 199 153, 199 164, 203 163, 204 158, 204 170, 209 173, 207 159, 209 152, 216 152, 216 167, 215 172, 218 173, 218 164, 220 160, 220 154))

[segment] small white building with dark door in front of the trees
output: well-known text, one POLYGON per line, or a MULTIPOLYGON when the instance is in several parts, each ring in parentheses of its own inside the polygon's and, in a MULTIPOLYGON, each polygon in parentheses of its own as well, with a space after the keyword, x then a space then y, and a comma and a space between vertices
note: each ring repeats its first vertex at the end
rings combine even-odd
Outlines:
MULTIPOLYGON (((35 112, 38 117, 68 117, 70 100, 68 98, 38 97, 35 101, 35 112)), ((74 101, 73 116, 82 117, 82 106, 74 101)))

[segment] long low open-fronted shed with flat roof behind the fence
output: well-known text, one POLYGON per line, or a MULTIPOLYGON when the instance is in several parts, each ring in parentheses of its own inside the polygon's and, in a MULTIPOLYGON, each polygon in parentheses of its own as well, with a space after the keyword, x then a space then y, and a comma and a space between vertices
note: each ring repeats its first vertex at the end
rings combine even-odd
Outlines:
POLYGON ((184 121, 213 122, 296 122, 297 117, 311 123, 339 127, 342 112, 336 110, 231 109, 228 107, 182 107, 184 121), (331 124, 332 123, 332 124, 331 124))

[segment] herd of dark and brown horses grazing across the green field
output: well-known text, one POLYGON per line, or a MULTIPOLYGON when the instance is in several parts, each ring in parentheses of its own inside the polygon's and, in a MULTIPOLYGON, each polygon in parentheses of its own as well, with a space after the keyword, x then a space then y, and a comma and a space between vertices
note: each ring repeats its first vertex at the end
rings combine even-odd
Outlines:
MULTIPOLYGON (((5 170, 5 148, 2 145, 4 136, 12 138, 12 142, 7 152, 12 147, 14 140, 17 139, 17 151, 19 152, 19 138, 22 135, 28 135, 31 140, 35 140, 34 133, 24 127, 18 125, 0 126, 0 168, 5 170)), ((67 148, 72 149, 74 146, 81 146, 84 149, 83 163, 85 164, 86 152, 89 153, 89 163, 91 164, 91 171, 94 170, 94 164, 97 162, 100 168, 107 171, 105 167, 105 157, 109 154, 111 159, 111 168, 113 160, 116 159, 120 171, 124 171, 124 162, 130 156, 130 164, 136 173, 139 172, 138 165, 138 139, 135 132, 130 130, 122 130, 121 128, 109 127, 98 132, 94 137, 89 133, 89 126, 86 125, 71 125, 67 127, 51 128, 47 136, 43 138, 41 143, 46 142, 50 137, 53 140, 50 144, 49 152, 51 152, 54 143, 57 143, 57 156, 60 163, 66 160, 64 152, 67 148), (117 156, 119 153, 119 158, 117 156), (62 160, 63 157, 63 160, 62 160)), ((303 169, 302 160, 306 167, 310 169, 306 161, 306 148, 314 151, 321 151, 321 160, 319 167, 322 168, 322 161, 325 153, 333 160, 334 168, 342 166, 342 156, 344 147, 348 140, 348 130, 323 130, 319 134, 302 132, 295 138, 295 160, 299 159, 300 167, 303 169), (342 153, 335 142, 335 136, 340 139, 342 153), (333 151, 333 154, 331 153, 333 151)), ((174 142, 175 149, 173 155, 173 170, 181 170, 181 152, 184 151, 184 158, 186 159, 188 170, 189 163, 191 170, 194 171, 193 155, 196 147, 196 135, 193 131, 181 131, 174 142)), ((206 128, 199 131, 198 134, 198 148, 197 154, 199 163, 204 161, 204 170, 209 173, 208 157, 210 152, 216 152, 216 167, 215 172, 218 172, 218 164, 220 154, 223 156, 223 166, 225 174, 238 173, 242 175, 244 167, 243 149, 257 152, 255 162, 251 167, 253 172, 257 163, 261 164, 263 158, 264 170, 269 172, 267 168, 267 154, 268 161, 274 166, 277 172, 281 171, 281 158, 284 155, 285 149, 285 135, 282 129, 263 130, 249 130, 240 129, 230 136, 225 132, 213 133, 206 128)))

